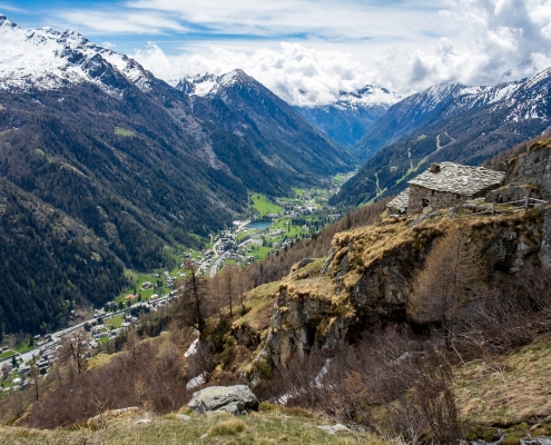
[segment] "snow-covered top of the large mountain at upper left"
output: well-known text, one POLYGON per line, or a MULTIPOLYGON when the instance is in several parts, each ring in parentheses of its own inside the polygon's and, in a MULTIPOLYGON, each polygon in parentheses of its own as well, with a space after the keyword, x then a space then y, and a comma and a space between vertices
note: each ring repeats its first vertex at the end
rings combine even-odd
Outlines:
POLYGON ((26 30, 0 14, 0 41, 3 90, 52 90, 91 82, 115 92, 124 88, 124 78, 146 90, 154 78, 135 60, 75 31, 26 30))

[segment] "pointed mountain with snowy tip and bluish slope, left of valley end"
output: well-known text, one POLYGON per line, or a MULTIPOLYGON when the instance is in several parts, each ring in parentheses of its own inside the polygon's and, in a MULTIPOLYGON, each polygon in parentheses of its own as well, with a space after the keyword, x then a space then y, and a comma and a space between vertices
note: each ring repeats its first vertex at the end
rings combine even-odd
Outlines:
POLYGON ((191 95, 195 116, 242 137, 287 175, 307 180, 312 172, 333 175, 354 164, 352 156, 239 69, 224 76, 181 79, 175 88, 191 95))

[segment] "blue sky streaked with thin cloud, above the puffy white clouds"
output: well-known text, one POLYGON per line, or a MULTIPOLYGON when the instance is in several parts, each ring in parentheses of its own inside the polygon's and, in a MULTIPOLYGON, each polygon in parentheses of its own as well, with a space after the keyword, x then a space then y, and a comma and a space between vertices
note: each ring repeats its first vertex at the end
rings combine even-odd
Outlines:
POLYGON ((76 29, 121 52, 156 42, 167 53, 211 43, 265 48, 292 41, 365 50, 400 41, 427 42, 444 33, 431 20, 440 9, 437 0, 0 0, 0 11, 24 28, 76 29))

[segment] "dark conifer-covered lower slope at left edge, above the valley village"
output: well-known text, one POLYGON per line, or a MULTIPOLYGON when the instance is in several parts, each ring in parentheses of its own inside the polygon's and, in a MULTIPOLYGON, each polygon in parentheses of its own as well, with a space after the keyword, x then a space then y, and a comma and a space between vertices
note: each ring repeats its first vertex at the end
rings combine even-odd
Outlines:
POLYGON ((58 327, 126 286, 122 264, 66 214, 0 179, 0 338, 58 327))

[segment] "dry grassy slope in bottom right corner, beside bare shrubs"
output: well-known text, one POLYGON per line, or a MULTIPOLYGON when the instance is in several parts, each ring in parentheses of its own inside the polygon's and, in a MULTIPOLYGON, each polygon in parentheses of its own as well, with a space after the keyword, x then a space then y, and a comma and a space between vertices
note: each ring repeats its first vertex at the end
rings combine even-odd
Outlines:
POLYGON ((476 425, 550 422, 550 379, 551 339, 527 346, 493 364, 470 363, 456 372, 460 415, 476 425), (501 367, 505 369, 503 375, 501 367))

